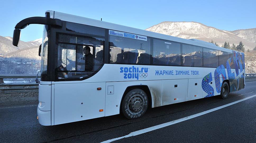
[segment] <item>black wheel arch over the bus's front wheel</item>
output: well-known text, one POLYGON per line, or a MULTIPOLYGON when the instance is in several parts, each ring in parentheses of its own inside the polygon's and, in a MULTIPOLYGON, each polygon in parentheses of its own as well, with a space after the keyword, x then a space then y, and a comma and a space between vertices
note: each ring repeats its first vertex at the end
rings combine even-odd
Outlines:
POLYGON ((147 94, 147 97, 148 97, 148 107, 149 108, 152 108, 152 96, 151 96, 151 93, 150 93, 150 90, 148 88, 148 85, 131 85, 131 86, 128 86, 126 89, 125 89, 125 92, 122 96, 122 99, 121 99, 121 102, 120 102, 120 113, 122 113, 122 101, 125 97, 125 95, 132 89, 141 89, 143 90, 146 94, 147 94))

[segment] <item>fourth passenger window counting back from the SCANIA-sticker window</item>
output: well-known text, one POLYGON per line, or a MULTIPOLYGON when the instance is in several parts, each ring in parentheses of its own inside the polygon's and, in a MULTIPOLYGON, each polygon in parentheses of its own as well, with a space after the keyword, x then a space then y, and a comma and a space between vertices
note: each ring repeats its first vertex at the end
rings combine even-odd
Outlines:
POLYGON ((218 50, 203 48, 204 56, 204 67, 206 68, 217 68, 218 63, 218 50))

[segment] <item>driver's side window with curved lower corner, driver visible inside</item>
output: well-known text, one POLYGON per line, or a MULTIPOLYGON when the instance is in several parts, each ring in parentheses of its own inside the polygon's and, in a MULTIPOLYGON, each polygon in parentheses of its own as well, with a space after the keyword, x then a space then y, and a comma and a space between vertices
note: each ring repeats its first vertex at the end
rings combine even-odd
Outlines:
POLYGON ((82 80, 103 66, 104 38, 59 34, 56 80, 82 80))

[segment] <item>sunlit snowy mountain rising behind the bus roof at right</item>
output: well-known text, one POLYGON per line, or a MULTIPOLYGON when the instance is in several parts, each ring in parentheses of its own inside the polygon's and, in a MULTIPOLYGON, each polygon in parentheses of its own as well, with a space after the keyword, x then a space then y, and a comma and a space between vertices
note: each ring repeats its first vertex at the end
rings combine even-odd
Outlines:
POLYGON ((242 41, 245 49, 253 49, 256 45, 256 28, 235 31, 220 30, 198 22, 161 22, 146 30, 185 39, 199 39, 206 42, 213 40, 220 46, 224 42, 239 44, 242 41))

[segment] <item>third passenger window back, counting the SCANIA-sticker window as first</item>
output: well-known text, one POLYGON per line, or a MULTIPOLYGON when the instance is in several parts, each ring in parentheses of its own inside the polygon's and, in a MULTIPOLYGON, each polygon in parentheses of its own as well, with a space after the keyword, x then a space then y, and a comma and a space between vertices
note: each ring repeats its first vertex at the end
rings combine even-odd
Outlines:
POLYGON ((182 66, 184 67, 202 67, 203 54, 202 47, 182 44, 182 66))

